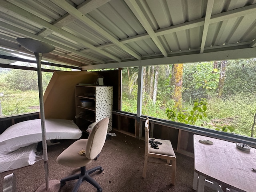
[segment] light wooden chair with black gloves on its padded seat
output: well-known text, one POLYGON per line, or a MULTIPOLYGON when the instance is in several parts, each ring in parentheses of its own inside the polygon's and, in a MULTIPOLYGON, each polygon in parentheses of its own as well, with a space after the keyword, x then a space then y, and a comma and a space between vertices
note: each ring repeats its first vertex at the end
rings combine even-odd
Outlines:
MULTIPOLYGON (((149 138, 149 119, 146 118, 145 122, 145 160, 142 177, 146 177, 148 157, 154 157, 167 160, 168 166, 172 166, 172 182, 175 184, 175 172, 176 172, 176 156, 172 148, 172 144, 169 140, 149 138), (152 146, 151 146, 152 145, 152 146), (172 164, 170 164, 172 161, 172 164)), ((154 162, 155 163, 155 162, 154 162)), ((160 163, 161 164, 161 163, 160 163)))

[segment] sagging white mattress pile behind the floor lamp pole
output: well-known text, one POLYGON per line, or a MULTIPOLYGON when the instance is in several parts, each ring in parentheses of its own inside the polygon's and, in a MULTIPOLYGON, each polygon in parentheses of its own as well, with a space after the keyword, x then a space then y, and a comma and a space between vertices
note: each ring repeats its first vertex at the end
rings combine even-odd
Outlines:
MULTIPOLYGON (((72 120, 46 119, 46 140, 79 139, 82 131, 72 120)), ((41 120, 14 124, 0 135, 0 172, 36 162, 36 146, 42 141, 41 120)))

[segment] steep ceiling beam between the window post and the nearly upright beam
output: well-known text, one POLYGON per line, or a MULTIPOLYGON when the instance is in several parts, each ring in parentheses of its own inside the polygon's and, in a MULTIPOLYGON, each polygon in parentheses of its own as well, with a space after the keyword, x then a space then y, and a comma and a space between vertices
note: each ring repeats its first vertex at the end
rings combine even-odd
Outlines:
POLYGON ((154 41, 154 43, 156 44, 156 46, 158 47, 158 49, 160 50, 160 52, 167 57, 168 54, 164 48, 164 46, 162 45, 162 43, 160 42, 160 40, 158 39, 158 37, 156 36, 154 30, 152 29, 152 27, 150 26, 150 23, 148 22, 147 18, 145 17, 145 15, 143 14, 142 10, 140 9, 139 5, 137 4, 137 2, 135 0, 125 0, 126 4, 129 6, 129 8, 132 10, 132 12, 134 13, 134 15, 136 16, 136 18, 139 20, 139 22, 142 24, 142 26, 144 27, 144 29, 148 32, 150 38, 154 41))

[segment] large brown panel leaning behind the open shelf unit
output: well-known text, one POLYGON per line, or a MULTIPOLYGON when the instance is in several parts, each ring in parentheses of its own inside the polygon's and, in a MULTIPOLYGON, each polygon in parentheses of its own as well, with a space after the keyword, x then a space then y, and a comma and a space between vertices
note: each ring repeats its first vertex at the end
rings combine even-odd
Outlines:
POLYGON ((44 93, 45 118, 75 120, 75 86, 78 83, 93 84, 97 77, 97 72, 54 72, 44 93))

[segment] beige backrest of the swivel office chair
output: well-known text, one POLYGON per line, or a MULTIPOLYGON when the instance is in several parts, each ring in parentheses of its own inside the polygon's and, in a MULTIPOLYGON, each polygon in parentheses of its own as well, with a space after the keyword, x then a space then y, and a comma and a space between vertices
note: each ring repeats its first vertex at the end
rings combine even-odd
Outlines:
POLYGON ((85 147, 85 155, 88 159, 94 159, 100 154, 106 141, 108 122, 109 119, 106 117, 92 128, 85 147))

